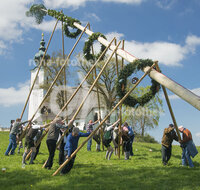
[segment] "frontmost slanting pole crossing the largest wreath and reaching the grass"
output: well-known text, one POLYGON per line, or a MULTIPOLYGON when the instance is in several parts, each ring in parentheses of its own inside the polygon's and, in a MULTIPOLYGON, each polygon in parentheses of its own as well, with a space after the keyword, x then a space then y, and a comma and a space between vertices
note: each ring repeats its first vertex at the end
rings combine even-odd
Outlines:
POLYGON ((137 87, 137 85, 144 79, 144 77, 149 74, 149 72, 151 71, 151 69, 155 66, 155 64, 153 64, 150 69, 144 73, 144 75, 136 82, 136 84, 125 94, 125 96, 117 103, 117 105, 110 111, 110 113, 103 119, 103 121, 101 121, 101 123, 99 124, 99 126, 87 137, 87 139, 71 154, 70 157, 68 157, 68 159, 53 173, 52 176, 57 175, 62 168, 69 163, 69 161, 78 153, 78 151, 87 143, 87 141, 97 132, 97 130, 103 125, 103 123, 108 119, 108 117, 110 117, 110 115, 117 109, 118 106, 120 106, 124 100, 130 95, 130 93, 137 87))

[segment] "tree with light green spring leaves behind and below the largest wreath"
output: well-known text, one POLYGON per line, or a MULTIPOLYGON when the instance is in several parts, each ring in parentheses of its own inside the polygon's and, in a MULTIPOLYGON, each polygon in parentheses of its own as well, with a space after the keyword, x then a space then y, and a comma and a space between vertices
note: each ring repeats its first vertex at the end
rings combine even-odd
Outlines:
MULTIPOLYGON (((139 87, 132 95, 141 95, 147 92, 149 88, 150 86, 139 87)), ((162 100, 159 97, 159 93, 157 93, 155 97, 143 107, 130 108, 128 106, 123 106, 123 120, 132 125, 134 130, 144 137, 147 129, 158 126, 160 114, 164 112, 162 106, 162 100)))

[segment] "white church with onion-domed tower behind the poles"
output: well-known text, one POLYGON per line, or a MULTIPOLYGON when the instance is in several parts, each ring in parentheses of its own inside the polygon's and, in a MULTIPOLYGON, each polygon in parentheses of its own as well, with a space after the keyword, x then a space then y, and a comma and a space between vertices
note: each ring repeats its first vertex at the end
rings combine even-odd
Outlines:
MULTIPOLYGON (((46 49, 45 41, 42 34, 39 52, 36 53, 34 57, 36 64, 39 63, 39 61, 42 59, 45 49, 46 49)), ((50 56, 46 55, 45 60, 49 58, 50 56)), ((36 66, 31 70, 31 85, 33 84, 37 71, 38 71, 38 66, 36 66)), ((41 88, 41 85, 45 83, 47 77, 48 73, 45 72, 45 69, 41 67, 33 91, 30 96, 28 119, 30 119, 33 116, 33 114, 38 109, 38 106, 40 105, 45 96, 46 91, 41 88)), ((65 87, 65 88, 67 89, 67 99, 68 99, 72 95, 73 91, 76 90, 76 87, 65 87)), ((53 91, 51 92, 50 95, 50 100, 46 101, 41 106, 40 110, 37 112, 33 120, 37 121, 39 124, 45 124, 47 121, 53 120, 54 117, 59 113, 60 109, 55 101, 56 92, 58 89, 59 89, 58 87, 53 87, 53 91)), ((81 104, 82 99, 85 97, 87 92, 88 92, 88 87, 87 86, 82 87, 79 90, 78 94, 69 103, 67 110, 64 111, 64 113, 62 113, 61 116, 63 118, 67 117, 69 121, 73 117, 74 113, 81 104)), ((91 92, 87 101, 84 103, 84 106, 81 109, 80 113, 77 115, 74 124, 81 130, 83 130, 85 125, 88 123, 90 119, 94 121, 98 118, 98 114, 99 114, 99 109, 98 109, 97 95, 95 92, 91 92)), ((101 118, 105 117, 105 106, 102 103, 100 108, 100 114, 101 118)), ((115 114, 113 117, 115 117, 115 114)))

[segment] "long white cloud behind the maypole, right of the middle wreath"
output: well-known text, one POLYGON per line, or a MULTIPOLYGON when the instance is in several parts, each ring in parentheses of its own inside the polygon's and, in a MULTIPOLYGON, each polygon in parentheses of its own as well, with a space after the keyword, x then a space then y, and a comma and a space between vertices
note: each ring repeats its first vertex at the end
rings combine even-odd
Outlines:
MULTIPOLYGON (((124 34, 118 32, 110 32, 106 34, 108 41, 117 38, 117 41, 124 38, 124 34)), ((188 35, 185 39, 185 45, 170 43, 165 41, 155 42, 138 42, 125 41, 125 50, 133 54, 137 58, 158 60, 160 64, 167 66, 181 66, 186 56, 195 53, 197 46, 200 45, 200 37, 188 35)), ((97 46, 99 51, 100 45, 97 46)))

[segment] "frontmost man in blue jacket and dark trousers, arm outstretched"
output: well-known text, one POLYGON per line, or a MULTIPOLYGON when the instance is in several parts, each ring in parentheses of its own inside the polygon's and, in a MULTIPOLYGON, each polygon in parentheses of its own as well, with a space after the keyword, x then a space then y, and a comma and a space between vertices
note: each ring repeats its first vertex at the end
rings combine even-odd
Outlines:
MULTIPOLYGON (((64 150, 65 150, 65 160, 67 160, 67 158, 69 158, 71 156, 71 154, 77 149, 78 147, 78 141, 80 137, 88 137, 90 135, 90 132, 87 133, 82 133, 79 132, 79 128, 78 127, 74 127, 72 129, 72 133, 70 133, 67 136, 67 142, 65 144, 64 150)), ((66 174, 68 173, 73 165, 74 165, 74 161, 75 161, 76 156, 74 156, 68 164, 66 164, 63 169, 61 170, 61 174, 66 174)))

